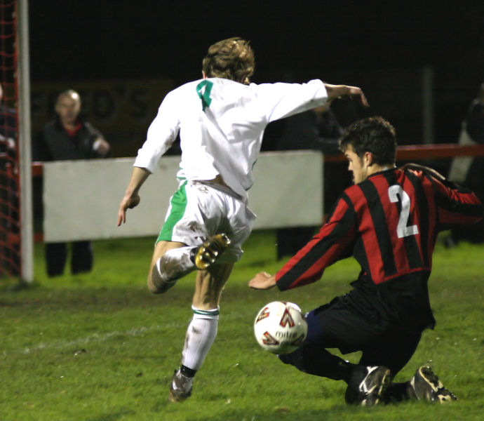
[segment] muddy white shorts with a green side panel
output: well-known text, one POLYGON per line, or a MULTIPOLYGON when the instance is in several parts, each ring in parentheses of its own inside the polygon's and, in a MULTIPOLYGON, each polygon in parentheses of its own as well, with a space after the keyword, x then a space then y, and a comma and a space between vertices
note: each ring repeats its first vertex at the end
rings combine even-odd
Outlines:
POLYGON ((228 187, 213 182, 186 181, 171 196, 156 242, 177 241, 199 246, 208 237, 224 233, 231 244, 217 262, 237 262, 255 219, 246 202, 228 187))

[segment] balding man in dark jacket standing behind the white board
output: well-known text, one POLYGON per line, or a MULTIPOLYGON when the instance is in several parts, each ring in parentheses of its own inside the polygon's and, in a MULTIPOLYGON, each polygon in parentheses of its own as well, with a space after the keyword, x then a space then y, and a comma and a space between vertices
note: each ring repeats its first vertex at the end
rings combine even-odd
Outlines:
MULTIPOLYGON (((79 118, 81 98, 76 91, 60 93, 55 102, 55 120, 43 126, 32 145, 34 161, 64 161, 69 159, 105 158, 109 143, 87 121, 79 118)), ((61 275, 67 260, 66 243, 46 244, 48 276, 61 275)), ((89 272, 93 267, 90 241, 72 243, 71 272, 89 272)))

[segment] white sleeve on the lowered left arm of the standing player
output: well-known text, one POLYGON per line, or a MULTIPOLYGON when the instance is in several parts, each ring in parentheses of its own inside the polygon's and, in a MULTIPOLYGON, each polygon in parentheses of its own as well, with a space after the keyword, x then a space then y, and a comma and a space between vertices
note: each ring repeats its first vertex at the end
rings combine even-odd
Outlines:
POLYGON ((146 168, 150 173, 156 169, 161 156, 170 148, 180 131, 177 104, 168 93, 161 102, 158 114, 148 128, 147 140, 138 149, 134 166, 146 168))

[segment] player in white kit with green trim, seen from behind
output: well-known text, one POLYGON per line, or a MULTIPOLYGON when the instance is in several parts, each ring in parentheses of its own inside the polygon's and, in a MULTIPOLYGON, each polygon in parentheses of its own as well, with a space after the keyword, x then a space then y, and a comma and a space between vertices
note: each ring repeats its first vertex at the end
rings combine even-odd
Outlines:
POLYGON ((308 83, 250 83, 254 54, 247 41, 225 39, 208 48, 203 79, 166 95, 139 149, 118 226, 140 202, 139 190, 180 133, 179 189, 170 199, 148 274, 152 293, 164 293, 177 279, 198 270, 181 366, 170 384, 170 401, 191 395, 196 371, 215 336, 220 293, 255 221, 247 190, 267 124, 340 96, 368 105, 360 88, 308 83))

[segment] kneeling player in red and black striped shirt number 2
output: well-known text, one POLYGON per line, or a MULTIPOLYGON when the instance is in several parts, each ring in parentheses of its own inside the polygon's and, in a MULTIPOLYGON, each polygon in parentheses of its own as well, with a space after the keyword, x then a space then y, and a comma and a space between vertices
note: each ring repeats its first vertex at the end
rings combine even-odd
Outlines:
POLYGON ((427 281, 438 232, 478 222, 483 206, 475 194, 431 168, 397 168, 395 130, 381 117, 349 126, 340 149, 354 185, 304 248, 275 275, 257 274, 249 286, 304 286, 350 255, 361 272, 349 293, 305 316, 304 344, 279 358, 305 373, 346 381, 347 403, 456 399, 429 367, 420 367, 409 382, 391 379, 414 354, 422 331, 435 325, 427 281), (361 351, 361 360, 349 363, 326 348, 361 351))

